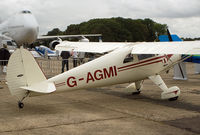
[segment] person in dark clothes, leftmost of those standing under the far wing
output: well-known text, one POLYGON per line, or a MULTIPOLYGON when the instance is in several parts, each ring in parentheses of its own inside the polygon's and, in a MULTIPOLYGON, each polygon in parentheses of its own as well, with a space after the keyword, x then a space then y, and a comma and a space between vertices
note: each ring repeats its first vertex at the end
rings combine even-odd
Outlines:
POLYGON ((65 65, 66 65, 66 70, 69 70, 69 62, 68 59, 70 57, 70 52, 69 51, 62 51, 61 55, 62 57, 62 73, 64 72, 65 65))

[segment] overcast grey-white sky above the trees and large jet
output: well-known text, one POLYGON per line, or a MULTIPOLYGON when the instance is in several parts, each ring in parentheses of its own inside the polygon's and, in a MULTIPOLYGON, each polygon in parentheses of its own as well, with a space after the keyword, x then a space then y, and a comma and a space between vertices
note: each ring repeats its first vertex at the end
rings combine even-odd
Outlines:
POLYGON ((1 0, 0 20, 31 10, 40 34, 94 18, 151 18, 181 37, 200 37, 200 0, 1 0))

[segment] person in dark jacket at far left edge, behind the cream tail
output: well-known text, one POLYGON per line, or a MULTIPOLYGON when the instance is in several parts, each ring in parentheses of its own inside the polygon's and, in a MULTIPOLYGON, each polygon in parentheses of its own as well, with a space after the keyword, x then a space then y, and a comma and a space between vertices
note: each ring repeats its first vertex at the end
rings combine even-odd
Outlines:
POLYGON ((0 49, 0 66, 1 71, 3 71, 3 67, 7 66, 8 60, 10 58, 10 52, 7 49, 7 45, 3 45, 3 48, 0 49))

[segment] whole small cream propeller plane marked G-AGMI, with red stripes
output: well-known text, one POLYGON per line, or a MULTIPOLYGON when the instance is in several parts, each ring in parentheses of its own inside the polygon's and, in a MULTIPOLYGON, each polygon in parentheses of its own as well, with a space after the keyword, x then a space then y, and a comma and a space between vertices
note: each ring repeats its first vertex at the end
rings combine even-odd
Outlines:
POLYGON ((30 52, 21 47, 10 57, 6 78, 19 108, 26 97, 122 83, 131 83, 128 88, 139 94, 148 78, 162 90, 162 99, 176 100, 180 89, 168 88, 159 74, 182 61, 180 54, 199 54, 200 42, 62 42, 56 48, 107 54, 47 79, 30 52))

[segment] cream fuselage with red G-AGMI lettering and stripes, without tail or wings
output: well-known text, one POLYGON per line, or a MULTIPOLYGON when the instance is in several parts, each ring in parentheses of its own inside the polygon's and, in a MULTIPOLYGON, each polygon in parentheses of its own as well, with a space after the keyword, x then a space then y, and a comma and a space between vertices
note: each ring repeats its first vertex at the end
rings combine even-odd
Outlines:
POLYGON ((113 51, 48 81, 54 82, 56 92, 131 83, 159 74, 181 59, 180 55, 155 55, 144 59, 133 55, 132 61, 124 62, 131 50, 126 47, 113 51))

